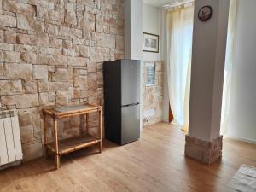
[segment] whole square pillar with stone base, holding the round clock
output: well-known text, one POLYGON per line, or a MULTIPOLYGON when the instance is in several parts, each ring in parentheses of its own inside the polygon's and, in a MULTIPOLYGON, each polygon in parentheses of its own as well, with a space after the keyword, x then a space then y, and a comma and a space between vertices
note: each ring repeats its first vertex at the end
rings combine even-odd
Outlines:
POLYGON ((229 0, 195 0, 190 84, 189 134, 185 154, 210 164, 222 155, 219 135, 229 0), (201 7, 210 5, 212 18, 198 19, 201 7))

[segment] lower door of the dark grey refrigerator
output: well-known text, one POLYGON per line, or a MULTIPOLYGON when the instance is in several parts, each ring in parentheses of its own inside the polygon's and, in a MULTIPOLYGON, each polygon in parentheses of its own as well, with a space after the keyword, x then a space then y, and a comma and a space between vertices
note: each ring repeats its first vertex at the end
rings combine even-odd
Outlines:
POLYGON ((122 107, 121 111, 121 145, 124 145, 140 137, 140 105, 122 107))

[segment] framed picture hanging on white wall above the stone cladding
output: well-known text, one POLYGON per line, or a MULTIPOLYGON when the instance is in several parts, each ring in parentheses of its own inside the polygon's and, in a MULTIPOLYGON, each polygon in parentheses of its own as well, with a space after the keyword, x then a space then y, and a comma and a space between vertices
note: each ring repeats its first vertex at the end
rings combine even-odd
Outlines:
POLYGON ((143 33, 143 51, 159 53, 159 35, 143 33))

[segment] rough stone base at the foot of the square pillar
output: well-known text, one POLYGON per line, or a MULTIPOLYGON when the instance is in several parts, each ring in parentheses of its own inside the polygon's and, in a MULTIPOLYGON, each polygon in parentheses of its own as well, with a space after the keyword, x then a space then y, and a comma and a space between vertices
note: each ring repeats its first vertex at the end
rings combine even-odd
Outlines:
POLYGON ((222 156, 222 136, 212 142, 186 136, 185 155, 206 164, 212 164, 222 156))

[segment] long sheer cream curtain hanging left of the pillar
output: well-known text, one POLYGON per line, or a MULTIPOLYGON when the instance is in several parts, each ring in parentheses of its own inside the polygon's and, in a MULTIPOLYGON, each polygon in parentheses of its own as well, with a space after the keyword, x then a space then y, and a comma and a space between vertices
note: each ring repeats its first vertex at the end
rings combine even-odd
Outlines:
POLYGON ((179 6, 166 11, 167 77, 172 124, 188 131, 190 67, 194 6, 179 6))

